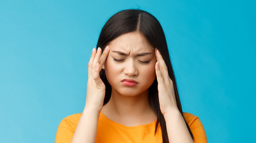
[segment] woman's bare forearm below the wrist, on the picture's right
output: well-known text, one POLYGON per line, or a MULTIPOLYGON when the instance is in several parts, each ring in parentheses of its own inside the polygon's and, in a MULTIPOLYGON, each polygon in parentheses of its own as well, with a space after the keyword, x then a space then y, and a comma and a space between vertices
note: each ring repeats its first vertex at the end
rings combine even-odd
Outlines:
POLYGON ((170 143, 194 143, 178 109, 165 113, 164 119, 170 143))

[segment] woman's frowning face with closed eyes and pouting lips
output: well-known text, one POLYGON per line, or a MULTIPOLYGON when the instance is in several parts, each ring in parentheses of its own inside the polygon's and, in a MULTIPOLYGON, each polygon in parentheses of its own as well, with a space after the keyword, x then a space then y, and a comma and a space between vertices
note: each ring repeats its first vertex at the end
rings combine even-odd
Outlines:
POLYGON ((156 77, 155 48, 139 32, 123 34, 108 46, 110 52, 103 69, 112 93, 147 94, 156 77))

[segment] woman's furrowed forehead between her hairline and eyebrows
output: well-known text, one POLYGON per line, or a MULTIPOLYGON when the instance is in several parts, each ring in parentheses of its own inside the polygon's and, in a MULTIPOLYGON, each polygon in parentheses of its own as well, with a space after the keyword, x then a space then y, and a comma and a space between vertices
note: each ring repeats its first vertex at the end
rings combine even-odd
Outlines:
POLYGON ((154 47, 140 32, 125 33, 111 41, 109 47, 110 51, 122 51, 127 54, 154 50, 154 47))

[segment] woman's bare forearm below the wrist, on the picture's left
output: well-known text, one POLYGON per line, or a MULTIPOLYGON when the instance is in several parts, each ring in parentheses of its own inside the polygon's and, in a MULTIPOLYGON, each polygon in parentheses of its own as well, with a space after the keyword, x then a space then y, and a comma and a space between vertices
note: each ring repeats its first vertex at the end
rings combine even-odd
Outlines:
POLYGON ((71 143, 95 143, 99 112, 84 108, 71 143))

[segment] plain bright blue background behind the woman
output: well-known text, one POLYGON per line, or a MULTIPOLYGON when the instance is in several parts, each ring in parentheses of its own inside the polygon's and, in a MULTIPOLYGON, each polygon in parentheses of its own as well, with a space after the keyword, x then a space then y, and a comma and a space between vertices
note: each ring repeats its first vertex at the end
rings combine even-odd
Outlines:
POLYGON ((255 2, 233 0, 1 1, 1 142, 54 142, 60 121, 84 108, 103 24, 128 8, 162 24, 183 110, 208 142, 256 142, 255 2))

